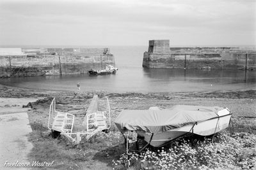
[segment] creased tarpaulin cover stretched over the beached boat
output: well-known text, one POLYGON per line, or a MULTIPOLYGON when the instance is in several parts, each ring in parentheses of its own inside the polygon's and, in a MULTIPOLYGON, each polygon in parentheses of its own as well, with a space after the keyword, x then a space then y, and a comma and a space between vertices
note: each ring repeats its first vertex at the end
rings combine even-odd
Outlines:
POLYGON ((153 107, 149 110, 122 110, 116 118, 115 124, 121 132, 139 130, 156 134, 218 117, 218 111, 223 109, 220 107, 176 105, 170 109, 153 107))

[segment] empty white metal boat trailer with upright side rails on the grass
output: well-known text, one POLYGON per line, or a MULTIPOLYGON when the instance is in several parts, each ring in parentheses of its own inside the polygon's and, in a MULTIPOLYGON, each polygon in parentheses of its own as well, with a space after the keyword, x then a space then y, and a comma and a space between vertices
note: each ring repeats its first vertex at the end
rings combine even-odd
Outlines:
POLYGON ((111 113, 108 97, 106 97, 106 111, 98 110, 99 97, 94 95, 92 102, 86 111, 83 127, 86 127, 84 132, 73 132, 75 116, 63 111, 56 111, 56 99, 52 100, 49 110, 48 129, 52 133, 57 132, 65 136, 68 141, 79 144, 82 136, 88 141, 92 136, 100 131, 108 131, 111 127, 111 113), (107 118, 108 117, 108 118, 107 118))

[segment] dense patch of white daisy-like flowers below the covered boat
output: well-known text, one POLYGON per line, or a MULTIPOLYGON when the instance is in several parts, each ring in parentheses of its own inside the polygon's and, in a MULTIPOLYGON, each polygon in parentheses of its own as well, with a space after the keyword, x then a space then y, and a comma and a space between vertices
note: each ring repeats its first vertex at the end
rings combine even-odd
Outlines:
POLYGON ((145 154, 122 154, 114 169, 255 169, 256 136, 223 131, 218 142, 211 139, 180 139, 171 148, 147 150, 145 154))

